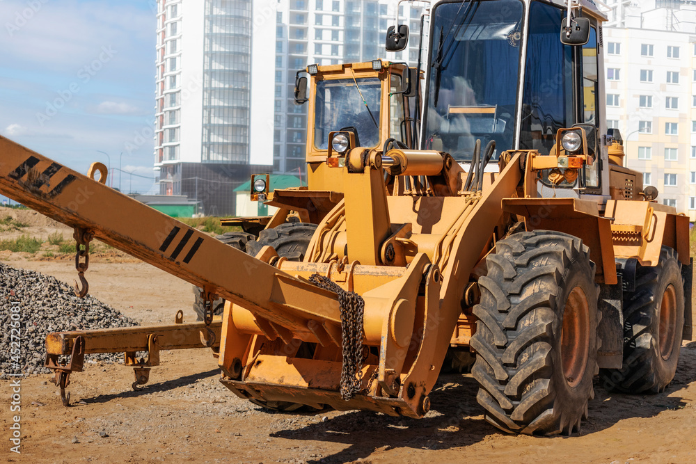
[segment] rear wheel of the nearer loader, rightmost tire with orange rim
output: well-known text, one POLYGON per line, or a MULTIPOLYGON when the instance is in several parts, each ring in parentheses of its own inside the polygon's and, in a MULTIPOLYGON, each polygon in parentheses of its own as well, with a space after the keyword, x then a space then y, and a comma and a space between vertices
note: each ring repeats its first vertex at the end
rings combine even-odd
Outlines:
POLYGON ((663 246, 657 266, 640 266, 624 295, 624 363, 602 369, 607 390, 659 393, 677 372, 684 326, 684 284, 677 252, 663 246))

